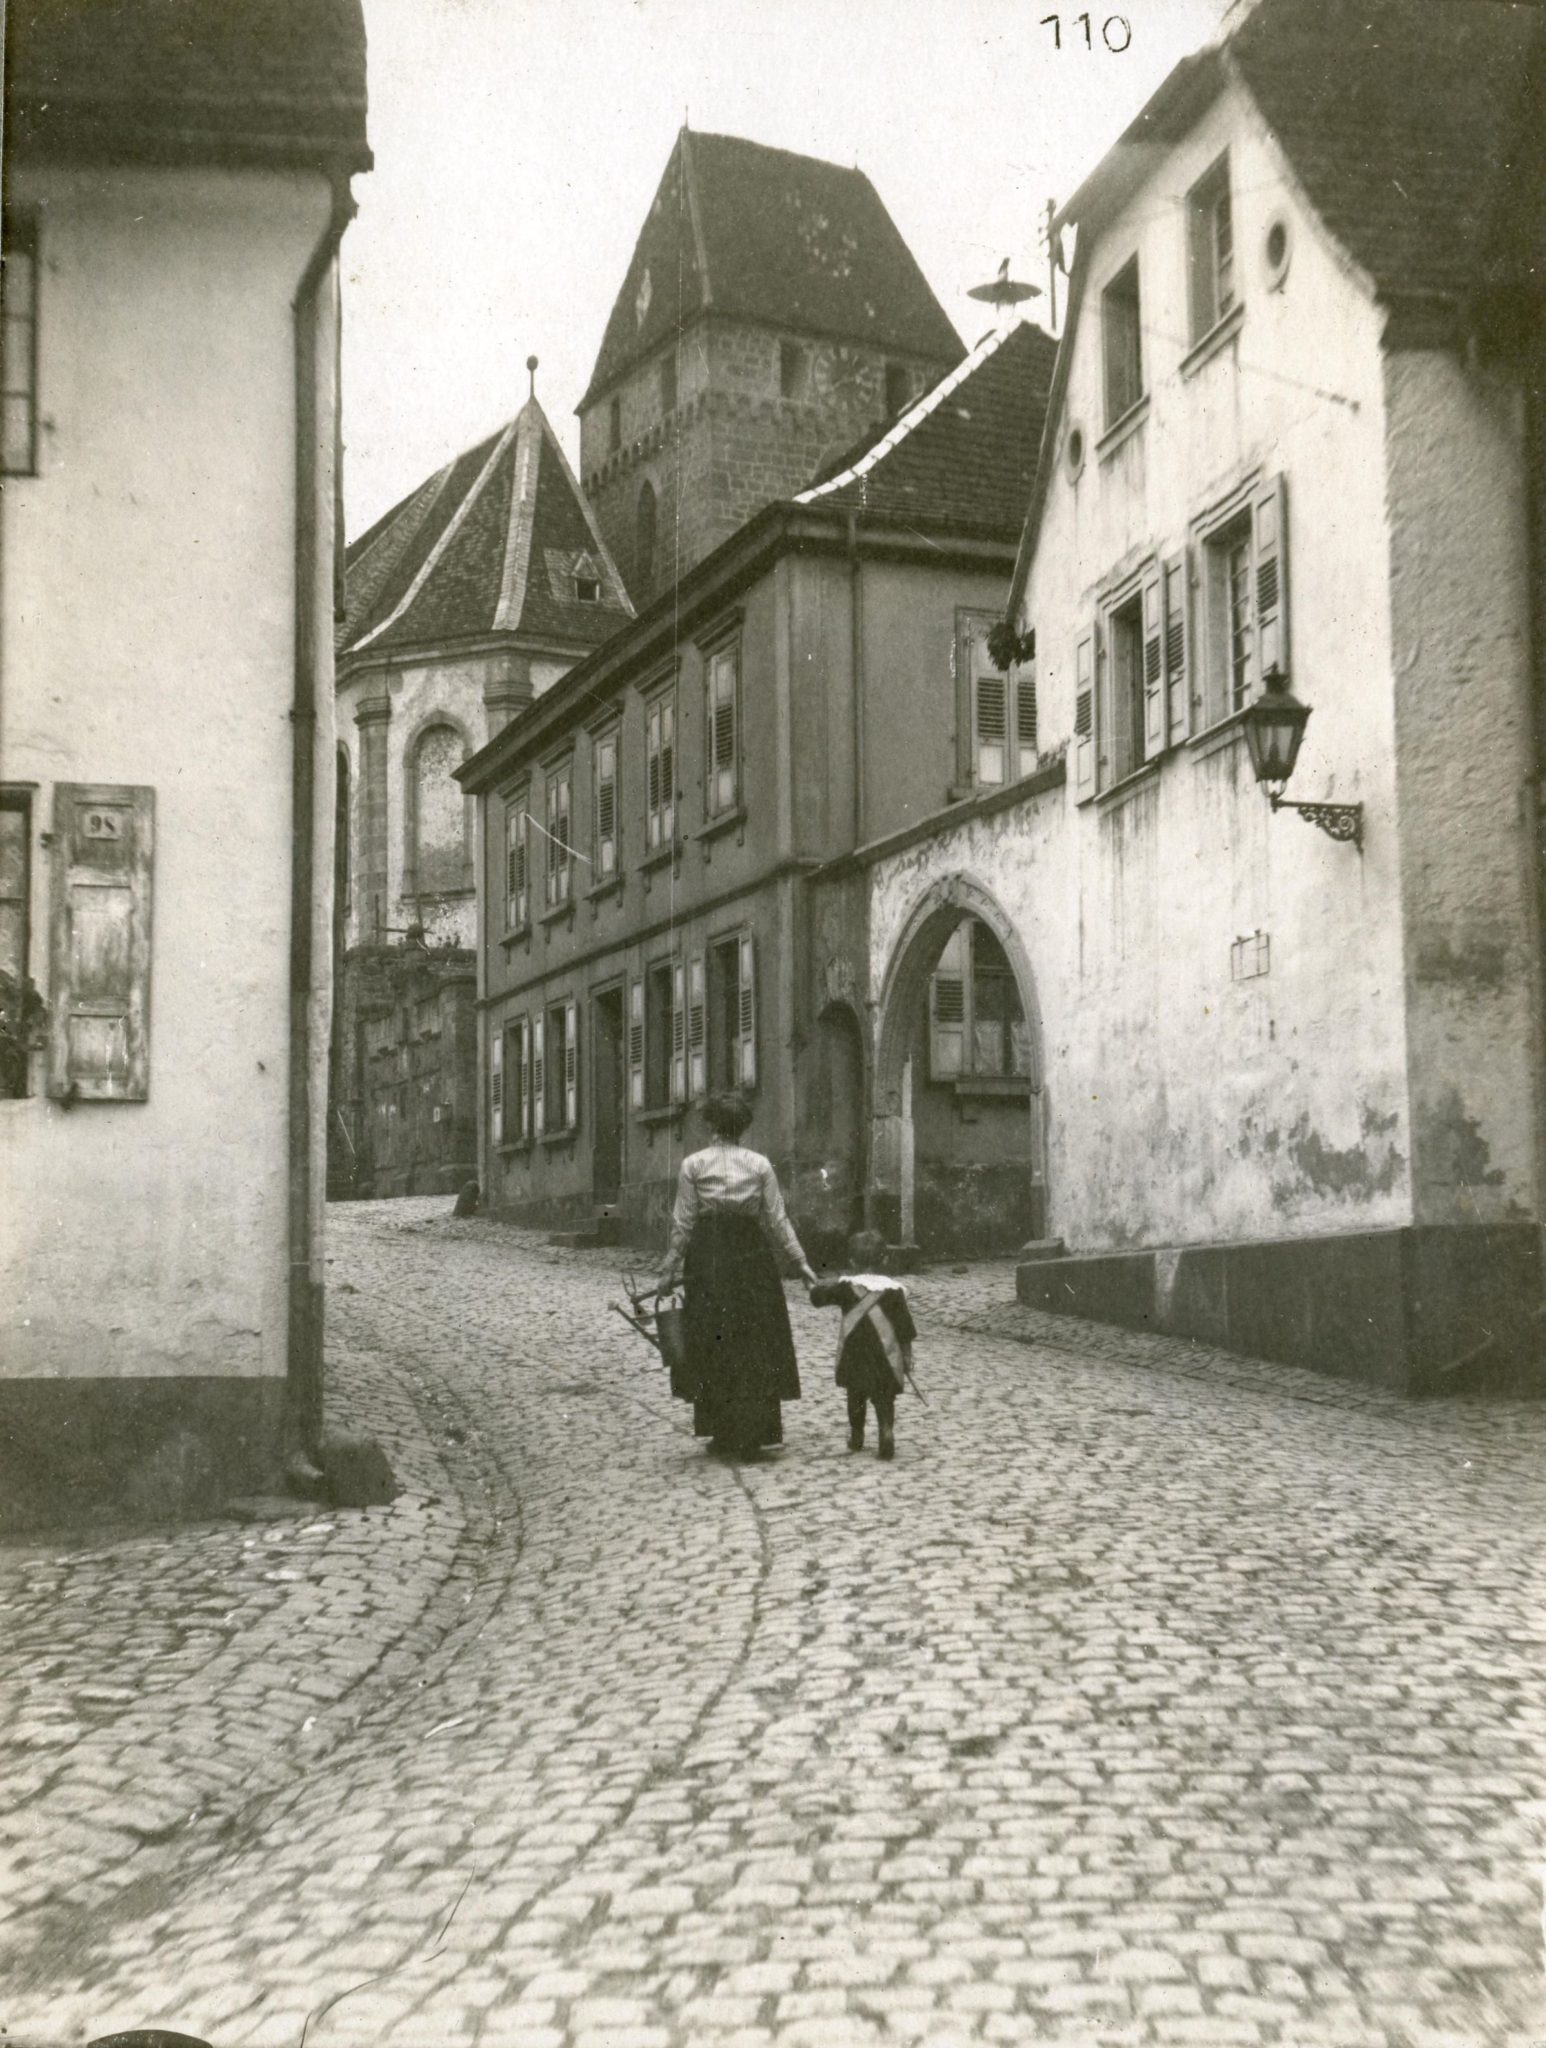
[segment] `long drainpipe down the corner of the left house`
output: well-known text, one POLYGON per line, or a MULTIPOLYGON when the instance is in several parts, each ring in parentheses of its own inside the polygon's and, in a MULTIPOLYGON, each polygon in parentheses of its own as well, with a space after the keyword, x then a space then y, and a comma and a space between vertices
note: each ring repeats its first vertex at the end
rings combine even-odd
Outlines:
MULTIPOLYGON (((317 330, 321 295, 338 244, 354 217, 348 176, 334 172, 328 225, 295 289, 295 690, 291 698, 291 1053, 289 1053, 289 1325, 287 1436, 289 1448, 315 1450, 321 1434, 321 1276, 311 1227, 317 1161, 313 1157, 313 1018, 317 973, 317 561, 324 524, 317 512, 317 330)), ((334 463, 342 428, 334 379, 334 463)), ((334 469, 334 477, 338 471, 334 469)), ((336 518, 336 508, 334 508, 336 518)), ((332 522, 326 528, 332 535, 332 522)), ((328 963, 324 963, 324 973, 328 963)), ((326 1085, 326 1081, 324 1081, 326 1085)))

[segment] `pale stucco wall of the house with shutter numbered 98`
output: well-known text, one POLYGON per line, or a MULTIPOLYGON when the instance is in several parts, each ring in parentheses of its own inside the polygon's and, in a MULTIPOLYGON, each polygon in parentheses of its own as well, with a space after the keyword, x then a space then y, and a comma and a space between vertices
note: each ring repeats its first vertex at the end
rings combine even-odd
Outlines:
MULTIPOLYGON (((299 174, 18 168, 6 197, 41 213, 45 428, 39 477, 4 492, 2 737, 6 778, 35 784, 31 969, 45 993, 39 834, 55 780, 154 784, 156 866, 149 1100, 0 1102, 0 1374, 281 1376, 291 301, 330 195, 299 174)), ((324 371, 332 348, 326 311, 324 371)), ((332 911, 330 399, 324 383, 315 1139, 332 911)))

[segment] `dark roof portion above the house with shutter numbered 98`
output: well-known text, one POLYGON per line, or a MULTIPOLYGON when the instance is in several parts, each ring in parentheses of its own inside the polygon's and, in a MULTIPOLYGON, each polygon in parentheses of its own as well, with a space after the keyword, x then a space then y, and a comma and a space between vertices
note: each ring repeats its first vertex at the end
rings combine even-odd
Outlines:
POLYGON ((8 0, 6 145, 367 170, 360 0, 8 0))

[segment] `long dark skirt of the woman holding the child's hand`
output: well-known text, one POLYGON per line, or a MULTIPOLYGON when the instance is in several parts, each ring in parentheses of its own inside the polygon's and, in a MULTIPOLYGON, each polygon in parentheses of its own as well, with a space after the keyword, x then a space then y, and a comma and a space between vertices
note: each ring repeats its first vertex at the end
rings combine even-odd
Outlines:
POLYGON ((801 1374, 772 1247, 756 1217, 708 1210, 682 1260, 692 1430, 725 1450, 782 1444, 801 1374))

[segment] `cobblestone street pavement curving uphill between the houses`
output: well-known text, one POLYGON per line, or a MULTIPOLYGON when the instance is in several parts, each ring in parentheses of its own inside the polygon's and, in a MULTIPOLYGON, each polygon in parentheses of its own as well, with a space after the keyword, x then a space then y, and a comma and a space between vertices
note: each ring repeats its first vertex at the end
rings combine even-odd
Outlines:
MULTIPOLYGON (((0 1552, 0 2040, 1526 2048, 1546 1407, 915 1284, 706 1456, 618 1257, 332 1212, 369 1516, 0 1552)), ((795 1296, 795 1290, 790 1290, 795 1296)))

